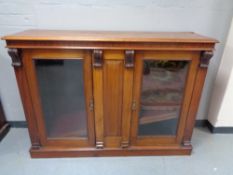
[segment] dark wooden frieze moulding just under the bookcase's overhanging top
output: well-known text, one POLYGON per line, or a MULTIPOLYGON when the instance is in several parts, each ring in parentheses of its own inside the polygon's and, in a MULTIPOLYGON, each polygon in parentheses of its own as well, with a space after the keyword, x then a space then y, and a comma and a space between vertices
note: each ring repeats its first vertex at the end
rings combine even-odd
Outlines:
POLYGON ((112 50, 213 50, 214 43, 102 42, 102 41, 25 41, 7 40, 8 48, 34 49, 112 49, 112 50))

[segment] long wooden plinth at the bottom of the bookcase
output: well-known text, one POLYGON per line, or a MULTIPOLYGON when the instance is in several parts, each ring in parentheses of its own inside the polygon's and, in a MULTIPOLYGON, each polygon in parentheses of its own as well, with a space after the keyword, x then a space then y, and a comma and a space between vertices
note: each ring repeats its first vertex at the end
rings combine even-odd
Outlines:
POLYGON ((59 148, 41 148, 30 149, 32 158, 51 158, 51 157, 100 157, 100 156, 154 156, 154 155, 189 155, 191 147, 189 146, 158 146, 153 148, 130 147, 127 149, 107 148, 107 149, 59 149, 59 148))

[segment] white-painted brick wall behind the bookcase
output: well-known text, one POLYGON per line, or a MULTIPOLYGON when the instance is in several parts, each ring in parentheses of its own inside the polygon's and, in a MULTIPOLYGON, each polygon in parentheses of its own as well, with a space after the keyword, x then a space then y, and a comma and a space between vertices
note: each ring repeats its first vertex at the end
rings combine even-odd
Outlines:
MULTIPOLYGON (((210 94, 233 14, 233 0, 0 0, 0 35, 24 29, 193 31, 218 39, 198 119, 210 94)), ((0 95, 9 121, 25 120, 10 57, 0 41, 0 95)))

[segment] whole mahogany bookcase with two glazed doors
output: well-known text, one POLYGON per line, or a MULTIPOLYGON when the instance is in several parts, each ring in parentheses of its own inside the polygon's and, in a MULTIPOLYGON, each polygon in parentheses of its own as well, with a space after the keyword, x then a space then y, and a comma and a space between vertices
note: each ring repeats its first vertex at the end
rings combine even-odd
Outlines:
POLYGON ((3 37, 31 156, 187 155, 215 39, 27 30, 3 37))

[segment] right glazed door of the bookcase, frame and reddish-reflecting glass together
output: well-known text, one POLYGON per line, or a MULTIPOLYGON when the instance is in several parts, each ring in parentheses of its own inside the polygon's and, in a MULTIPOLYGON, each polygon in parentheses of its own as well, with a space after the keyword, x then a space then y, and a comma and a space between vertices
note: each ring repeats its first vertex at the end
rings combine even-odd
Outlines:
POLYGON ((199 52, 138 52, 131 144, 181 144, 199 52))

